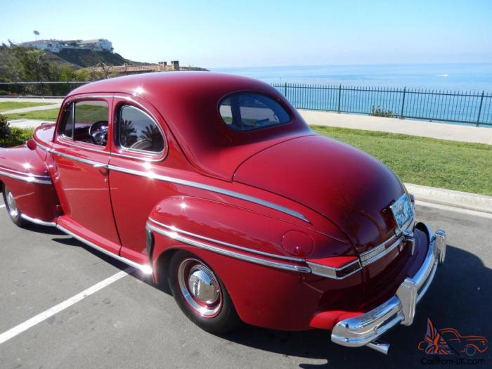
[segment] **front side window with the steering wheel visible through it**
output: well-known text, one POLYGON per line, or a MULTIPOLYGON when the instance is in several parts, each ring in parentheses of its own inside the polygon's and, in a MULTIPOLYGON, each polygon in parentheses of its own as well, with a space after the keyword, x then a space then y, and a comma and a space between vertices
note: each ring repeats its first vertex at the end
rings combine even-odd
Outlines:
POLYGON ((72 141, 105 146, 108 141, 108 103, 77 101, 65 115, 61 133, 72 141))

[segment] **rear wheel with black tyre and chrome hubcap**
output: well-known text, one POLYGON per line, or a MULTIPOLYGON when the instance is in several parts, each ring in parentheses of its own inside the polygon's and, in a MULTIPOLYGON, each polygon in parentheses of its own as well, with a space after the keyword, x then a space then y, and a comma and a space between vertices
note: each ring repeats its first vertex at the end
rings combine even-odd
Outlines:
POLYGON ((240 323, 231 296, 212 268, 188 252, 174 254, 167 274, 179 308, 207 332, 219 334, 240 323))

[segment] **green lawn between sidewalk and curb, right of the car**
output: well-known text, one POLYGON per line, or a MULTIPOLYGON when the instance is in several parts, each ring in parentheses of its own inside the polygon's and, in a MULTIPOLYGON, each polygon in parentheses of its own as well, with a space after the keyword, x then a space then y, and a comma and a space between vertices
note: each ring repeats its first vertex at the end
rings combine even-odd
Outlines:
POLYGON ((390 167, 403 182, 492 195, 492 145, 311 126, 390 167))

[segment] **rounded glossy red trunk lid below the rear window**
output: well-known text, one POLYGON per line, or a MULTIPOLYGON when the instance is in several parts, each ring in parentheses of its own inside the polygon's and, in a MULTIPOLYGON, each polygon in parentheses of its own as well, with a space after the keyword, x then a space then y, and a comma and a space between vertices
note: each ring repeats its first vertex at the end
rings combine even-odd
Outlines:
POLYGON ((319 135, 262 150, 238 167, 234 181, 283 195, 322 214, 341 228, 358 252, 394 234, 389 205, 405 193, 382 162, 319 135))

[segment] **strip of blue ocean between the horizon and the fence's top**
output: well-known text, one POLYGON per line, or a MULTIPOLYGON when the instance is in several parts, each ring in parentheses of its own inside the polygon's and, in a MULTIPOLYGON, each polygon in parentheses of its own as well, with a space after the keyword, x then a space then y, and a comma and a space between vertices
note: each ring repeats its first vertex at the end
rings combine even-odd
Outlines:
POLYGON ((492 63, 299 65, 281 67, 221 67, 231 73, 267 83, 371 86, 438 91, 492 93, 492 63))

